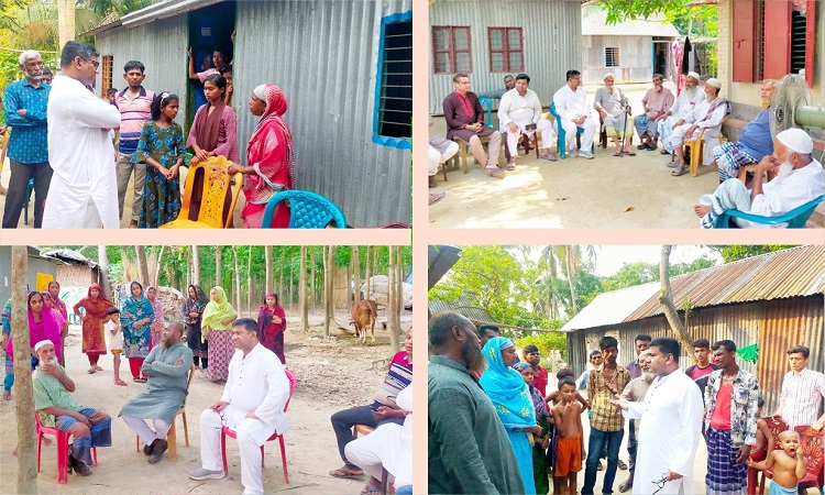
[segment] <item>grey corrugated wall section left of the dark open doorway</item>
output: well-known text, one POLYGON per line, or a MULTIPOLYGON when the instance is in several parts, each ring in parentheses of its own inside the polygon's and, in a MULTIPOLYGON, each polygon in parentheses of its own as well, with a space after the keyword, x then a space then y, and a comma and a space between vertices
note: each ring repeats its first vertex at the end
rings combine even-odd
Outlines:
MULTIPOLYGON (((188 88, 188 46, 186 15, 154 21, 130 30, 120 26, 96 36, 96 48, 100 52, 100 58, 105 55, 113 57, 113 87, 120 90, 125 88, 123 64, 140 61, 146 66, 143 86, 156 92, 172 91, 180 97, 180 101, 186 101, 188 88)), ((100 74, 97 76, 96 87, 101 87, 100 74)), ((186 122, 186 106, 182 105, 175 120, 183 123, 186 122)))

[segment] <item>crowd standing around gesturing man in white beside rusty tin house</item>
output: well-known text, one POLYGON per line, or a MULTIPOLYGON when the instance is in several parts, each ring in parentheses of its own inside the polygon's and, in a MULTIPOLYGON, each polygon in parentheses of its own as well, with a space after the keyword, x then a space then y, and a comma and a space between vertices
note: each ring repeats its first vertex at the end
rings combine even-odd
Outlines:
POLYGON ((476 329, 457 312, 429 323, 428 461, 430 493, 593 494, 607 459, 602 493, 614 492, 620 444, 628 431, 629 476, 620 493, 694 493, 696 451, 707 444, 705 493, 756 493, 755 470, 776 469, 771 494, 795 493, 807 459, 800 428, 822 431, 825 375, 806 367, 810 350, 788 350, 780 402, 762 418, 756 376, 737 364, 736 343, 693 342, 696 364, 682 371, 672 338, 634 339, 637 358, 616 362, 618 342, 605 336, 579 383, 558 374, 558 389, 539 388, 538 350, 476 329), (711 361, 710 356, 712 355, 711 361), (538 369, 537 369, 538 367, 538 369), (587 398, 578 395, 586 388, 587 398), (585 440, 582 416, 587 410, 585 440), (629 419, 626 425, 625 420, 629 419), (773 443, 767 420, 784 430, 773 443), (807 427, 806 427, 807 428, 807 427), (664 435, 667 432, 667 435, 664 435), (779 450, 777 450, 779 449, 779 450), (752 470, 751 470, 752 471, 752 470))

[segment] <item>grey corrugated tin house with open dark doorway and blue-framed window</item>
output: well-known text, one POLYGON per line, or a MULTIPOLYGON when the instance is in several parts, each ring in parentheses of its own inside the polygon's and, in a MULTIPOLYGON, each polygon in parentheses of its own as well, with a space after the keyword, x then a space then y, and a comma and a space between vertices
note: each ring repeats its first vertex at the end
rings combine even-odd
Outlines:
POLYGON ((330 199, 353 227, 410 223, 410 0, 165 0, 86 34, 100 51, 98 92, 122 88, 123 65, 140 61, 146 88, 180 97, 187 132, 200 90, 187 50, 196 70, 213 50, 227 52, 243 161, 257 123, 246 102, 275 84, 289 106, 296 188, 330 199))

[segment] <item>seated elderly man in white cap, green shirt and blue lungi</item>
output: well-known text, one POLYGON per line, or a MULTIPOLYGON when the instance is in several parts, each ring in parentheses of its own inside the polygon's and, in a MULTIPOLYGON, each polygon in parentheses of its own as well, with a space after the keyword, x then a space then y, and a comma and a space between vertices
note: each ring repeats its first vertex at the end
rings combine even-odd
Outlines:
POLYGON ((75 438, 69 446, 69 468, 81 476, 91 474, 91 448, 112 446, 112 419, 106 413, 81 406, 72 399, 75 382, 57 362, 54 343, 42 340, 34 345, 40 359, 32 377, 34 409, 45 427, 56 427, 75 438))

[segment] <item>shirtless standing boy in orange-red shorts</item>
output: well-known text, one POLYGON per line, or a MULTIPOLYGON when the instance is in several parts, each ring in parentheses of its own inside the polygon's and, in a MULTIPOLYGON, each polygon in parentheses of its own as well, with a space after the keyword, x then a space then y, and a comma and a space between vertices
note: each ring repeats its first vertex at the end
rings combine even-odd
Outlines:
POLYGON ((585 455, 582 433, 582 406, 576 402, 575 382, 565 377, 559 382, 561 402, 553 406, 553 424, 559 432, 556 446, 556 471, 553 485, 556 494, 576 493, 576 476, 582 471, 585 455))

